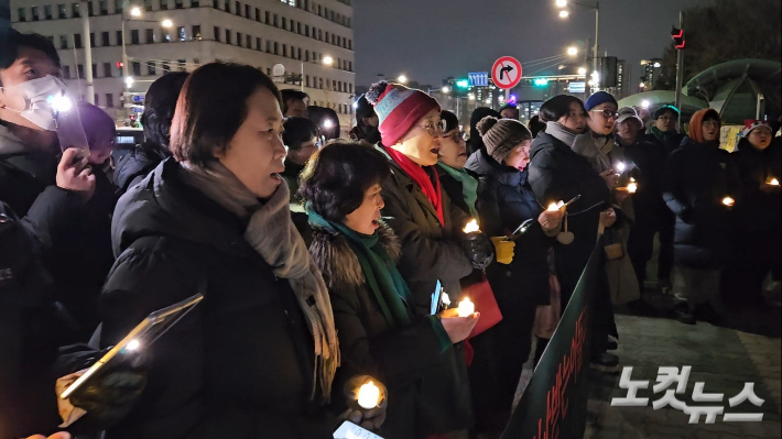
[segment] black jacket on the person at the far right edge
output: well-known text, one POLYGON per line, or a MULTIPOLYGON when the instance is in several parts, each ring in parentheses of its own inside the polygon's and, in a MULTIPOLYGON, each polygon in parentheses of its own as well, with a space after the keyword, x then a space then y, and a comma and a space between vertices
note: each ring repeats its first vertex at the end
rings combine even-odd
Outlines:
MULTIPOLYGON (((747 139, 739 142, 731 154, 741 179, 741 205, 737 206, 735 232, 752 235, 780 233, 782 197, 780 187, 769 186, 772 178, 782 182, 782 142, 774 138, 763 151, 758 151, 747 139)), ((779 250, 779 249, 778 249, 779 250)))

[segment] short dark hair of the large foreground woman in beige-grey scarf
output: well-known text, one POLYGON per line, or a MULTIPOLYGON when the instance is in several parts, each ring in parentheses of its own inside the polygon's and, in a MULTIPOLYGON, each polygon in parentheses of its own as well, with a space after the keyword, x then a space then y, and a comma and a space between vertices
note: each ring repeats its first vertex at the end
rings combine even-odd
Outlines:
POLYGON ((209 63, 193 72, 182 87, 171 124, 174 157, 202 167, 216 161, 215 149, 228 149, 247 118, 247 99, 261 88, 280 101, 274 83, 256 67, 209 63))

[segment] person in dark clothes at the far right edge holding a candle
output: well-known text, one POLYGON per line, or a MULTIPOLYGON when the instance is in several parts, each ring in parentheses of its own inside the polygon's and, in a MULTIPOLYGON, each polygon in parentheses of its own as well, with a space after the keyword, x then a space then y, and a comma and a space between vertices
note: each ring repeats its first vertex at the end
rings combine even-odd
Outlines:
POLYGON ((723 272, 723 298, 734 307, 762 305, 762 284, 769 272, 780 279, 782 144, 772 141, 771 127, 748 120, 731 154, 741 179, 741 200, 731 227, 734 252, 723 272))

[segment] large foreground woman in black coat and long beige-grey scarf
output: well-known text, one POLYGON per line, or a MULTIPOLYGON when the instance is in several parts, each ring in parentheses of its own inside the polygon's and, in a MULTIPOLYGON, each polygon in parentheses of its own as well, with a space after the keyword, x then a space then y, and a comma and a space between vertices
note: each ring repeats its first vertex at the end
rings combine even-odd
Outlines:
POLYGON ((187 78, 174 157, 119 201, 101 348, 204 300, 146 347, 148 384, 109 438, 330 438, 339 348, 328 293, 291 222, 276 86, 250 66, 187 78), (315 336, 313 336, 315 334, 315 336))

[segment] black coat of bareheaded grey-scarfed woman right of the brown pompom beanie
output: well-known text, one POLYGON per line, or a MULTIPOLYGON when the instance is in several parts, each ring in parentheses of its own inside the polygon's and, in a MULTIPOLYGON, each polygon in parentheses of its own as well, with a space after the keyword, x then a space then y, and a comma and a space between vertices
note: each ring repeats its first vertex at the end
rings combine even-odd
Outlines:
MULTIPOLYGON (((532 141, 529 169, 530 186, 542 206, 582 196, 567 208, 567 227, 575 235, 574 241, 569 245, 558 242, 554 245, 564 306, 595 249, 600 211, 610 207, 611 191, 588 158, 545 132, 537 133, 532 141)), ((619 221, 615 227, 618 224, 619 221)))

